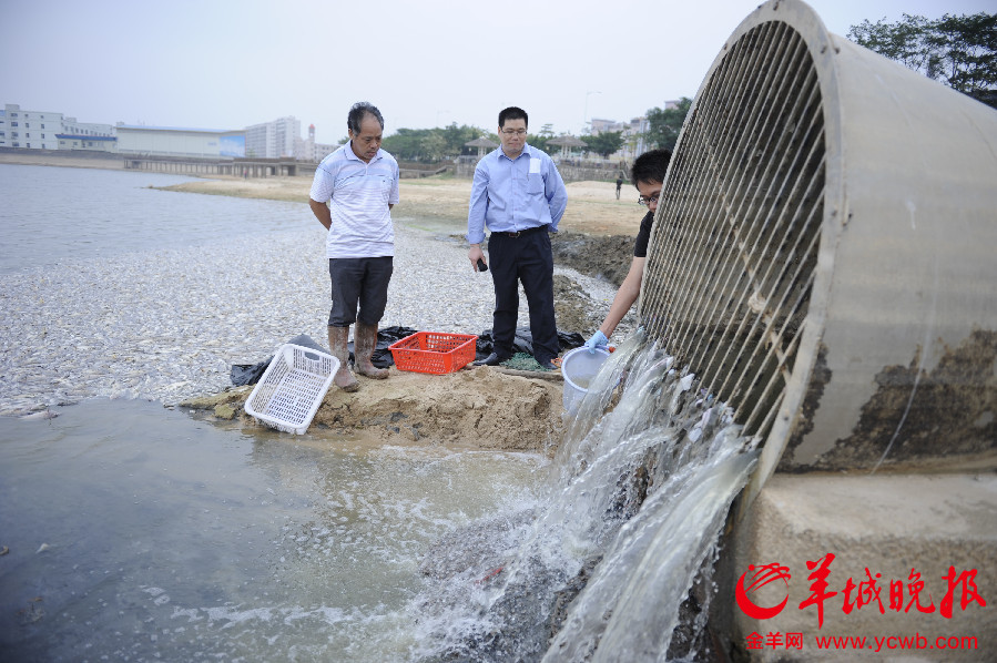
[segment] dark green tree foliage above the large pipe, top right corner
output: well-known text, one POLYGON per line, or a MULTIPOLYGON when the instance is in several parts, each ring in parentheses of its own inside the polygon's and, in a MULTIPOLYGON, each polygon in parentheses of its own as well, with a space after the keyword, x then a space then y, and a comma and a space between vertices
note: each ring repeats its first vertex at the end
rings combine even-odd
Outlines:
POLYGON ((997 108, 997 14, 903 17, 852 26, 848 39, 997 108))

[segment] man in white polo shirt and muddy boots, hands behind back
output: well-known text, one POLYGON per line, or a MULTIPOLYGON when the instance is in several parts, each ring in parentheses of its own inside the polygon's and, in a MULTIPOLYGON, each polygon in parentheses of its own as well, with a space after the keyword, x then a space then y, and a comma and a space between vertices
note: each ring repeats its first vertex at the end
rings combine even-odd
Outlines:
POLYGON ((373 104, 353 104, 346 129, 349 142, 318 164, 308 204, 328 230, 329 349, 339 359, 334 381, 344 391, 356 391, 346 346, 354 323, 354 368, 369 378, 388 377, 388 370, 375 367, 370 358, 391 280, 395 231, 390 210, 398 203, 398 162, 380 149, 384 118, 373 104))

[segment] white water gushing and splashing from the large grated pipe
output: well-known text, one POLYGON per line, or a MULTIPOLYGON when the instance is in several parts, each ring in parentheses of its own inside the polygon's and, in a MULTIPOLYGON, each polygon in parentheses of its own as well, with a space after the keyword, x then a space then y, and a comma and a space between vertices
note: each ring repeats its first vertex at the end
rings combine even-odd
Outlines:
POLYGON ((420 620, 427 638, 414 653, 550 663, 695 656, 715 541, 756 452, 728 407, 644 343, 634 334, 592 380, 538 504, 477 523, 427 558, 424 570, 440 584, 411 606, 435 615, 420 620), (686 601, 698 578, 705 591, 686 601))

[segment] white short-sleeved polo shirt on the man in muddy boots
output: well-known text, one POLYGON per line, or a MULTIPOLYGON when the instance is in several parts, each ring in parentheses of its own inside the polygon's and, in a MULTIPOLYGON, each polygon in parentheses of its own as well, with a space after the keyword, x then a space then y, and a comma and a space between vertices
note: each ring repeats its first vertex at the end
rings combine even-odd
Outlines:
POLYGON ((347 142, 315 170, 311 197, 328 202, 333 223, 326 235, 329 258, 395 255, 395 230, 388 205, 398 203, 398 162, 378 150, 370 163, 347 142))

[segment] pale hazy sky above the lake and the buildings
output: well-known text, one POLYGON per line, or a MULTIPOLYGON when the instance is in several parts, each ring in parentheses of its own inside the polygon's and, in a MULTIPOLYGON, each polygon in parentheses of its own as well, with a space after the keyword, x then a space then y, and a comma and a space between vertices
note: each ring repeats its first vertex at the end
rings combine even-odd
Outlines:
MULTIPOLYGON (((997 0, 812 0, 844 37, 864 19, 997 11, 997 0)), ((7 1, 0 104, 80 122, 242 129, 294 115, 346 134, 355 101, 386 134, 450 122, 579 133, 694 96, 756 0, 7 1)))

